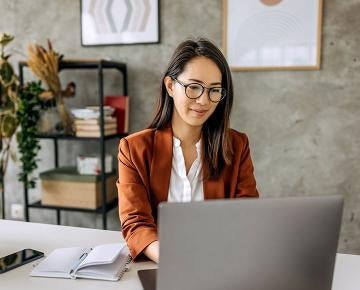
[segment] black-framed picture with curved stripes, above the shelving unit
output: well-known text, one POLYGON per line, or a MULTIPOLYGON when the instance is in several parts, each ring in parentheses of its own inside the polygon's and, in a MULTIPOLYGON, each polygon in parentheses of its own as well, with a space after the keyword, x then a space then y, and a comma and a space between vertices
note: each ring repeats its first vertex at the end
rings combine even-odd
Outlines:
POLYGON ((159 42, 158 0, 81 0, 81 44, 159 42))

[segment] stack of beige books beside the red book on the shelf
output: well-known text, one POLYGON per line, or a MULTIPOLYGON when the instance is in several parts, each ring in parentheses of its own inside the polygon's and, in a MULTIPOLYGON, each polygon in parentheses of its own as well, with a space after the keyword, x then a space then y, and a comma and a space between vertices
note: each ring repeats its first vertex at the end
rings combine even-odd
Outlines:
MULTIPOLYGON (((104 136, 117 133, 117 122, 114 117, 104 118, 104 136)), ((75 119, 75 135, 78 137, 100 137, 101 127, 99 118, 75 119)))

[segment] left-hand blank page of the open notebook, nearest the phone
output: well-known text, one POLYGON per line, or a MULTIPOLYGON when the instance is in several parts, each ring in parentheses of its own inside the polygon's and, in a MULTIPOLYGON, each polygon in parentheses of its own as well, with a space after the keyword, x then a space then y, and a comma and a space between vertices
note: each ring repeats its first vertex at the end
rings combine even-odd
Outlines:
POLYGON ((74 264, 86 251, 86 248, 80 247, 56 249, 33 269, 32 274, 51 272, 69 274, 74 264))

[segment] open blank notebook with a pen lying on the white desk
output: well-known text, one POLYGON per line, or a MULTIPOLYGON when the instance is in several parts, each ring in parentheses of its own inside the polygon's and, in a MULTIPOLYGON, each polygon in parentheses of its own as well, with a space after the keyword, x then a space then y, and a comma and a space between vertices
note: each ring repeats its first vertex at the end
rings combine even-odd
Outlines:
POLYGON ((37 264, 30 276, 117 281, 130 261, 125 243, 103 244, 90 249, 60 248, 37 264))

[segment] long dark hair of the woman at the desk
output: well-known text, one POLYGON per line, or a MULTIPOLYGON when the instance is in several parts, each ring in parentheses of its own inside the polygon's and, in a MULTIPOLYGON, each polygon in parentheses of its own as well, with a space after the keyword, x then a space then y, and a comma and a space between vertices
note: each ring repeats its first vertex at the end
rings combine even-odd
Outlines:
POLYGON ((165 88, 165 77, 176 79, 184 71, 185 65, 194 57, 199 56, 211 59, 218 66, 222 75, 222 87, 227 92, 225 99, 220 101, 214 113, 202 127, 202 164, 208 172, 204 178, 216 179, 220 176, 225 164, 231 163, 233 154, 229 135, 233 84, 224 55, 211 41, 204 38, 186 40, 176 48, 162 77, 155 117, 148 128, 161 129, 171 122, 174 102, 165 88))

